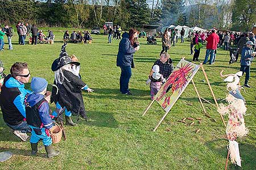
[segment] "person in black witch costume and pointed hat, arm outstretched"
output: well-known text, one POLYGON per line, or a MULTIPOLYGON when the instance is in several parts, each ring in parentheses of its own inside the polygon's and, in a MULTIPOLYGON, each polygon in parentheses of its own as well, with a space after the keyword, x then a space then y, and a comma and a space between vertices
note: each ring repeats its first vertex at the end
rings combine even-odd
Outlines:
POLYGON ((58 113, 65 110, 66 125, 76 126, 72 121, 72 113, 79 115, 87 121, 87 116, 82 99, 82 90, 92 92, 78 76, 72 73, 72 66, 79 66, 79 62, 71 60, 65 48, 67 42, 61 47, 60 56, 52 63, 52 71, 55 73, 55 80, 52 88, 51 103, 54 101, 56 110, 52 113, 57 117, 58 113), (56 87, 56 88, 55 88, 56 87))

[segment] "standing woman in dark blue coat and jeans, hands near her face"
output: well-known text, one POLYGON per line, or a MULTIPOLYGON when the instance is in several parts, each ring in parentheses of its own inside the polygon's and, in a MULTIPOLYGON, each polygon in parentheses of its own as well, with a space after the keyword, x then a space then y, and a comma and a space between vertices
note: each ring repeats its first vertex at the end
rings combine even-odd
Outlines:
POLYGON ((134 47, 133 40, 135 37, 137 37, 137 31, 132 28, 129 30, 129 33, 123 33, 122 40, 119 42, 117 66, 121 68, 121 76, 119 81, 120 91, 125 95, 131 95, 129 90, 129 81, 131 78, 133 53, 139 50, 139 46, 134 47))

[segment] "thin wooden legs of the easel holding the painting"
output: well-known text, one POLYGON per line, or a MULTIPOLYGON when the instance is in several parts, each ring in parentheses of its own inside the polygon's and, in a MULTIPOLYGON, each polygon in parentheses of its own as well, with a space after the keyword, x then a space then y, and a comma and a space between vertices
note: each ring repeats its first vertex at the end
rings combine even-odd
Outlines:
MULTIPOLYGON (((216 97, 214 96, 212 87, 210 86, 209 79, 208 79, 208 77, 207 77, 207 74, 205 73, 205 70, 204 70, 204 67, 203 67, 203 63, 200 63, 200 67, 201 67, 201 69, 202 69, 202 71, 203 71, 203 73, 204 73, 205 79, 207 80, 207 84, 208 84, 209 89, 210 89, 210 92, 211 92, 211 94, 212 94, 212 96, 213 96, 213 100, 214 100, 214 102, 215 102, 215 104, 216 104, 216 107, 219 108, 219 107, 218 107, 217 100, 216 100, 216 97)), ((205 100, 203 97, 200 97, 199 92, 197 91, 197 88, 196 88, 196 85, 195 85, 195 82, 193 81, 193 79, 191 79, 191 82, 192 82, 192 84, 193 84, 193 87, 195 88, 196 95, 197 95, 197 97, 198 97, 198 99, 199 99, 199 101, 200 101, 201 107, 203 108, 204 113, 207 114, 207 112, 205 111, 205 108, 204 108, 202 99, 203 99, 204 101, 207 101, 208 103, 210 103, 210 102, 209 102, 208 100, 205 100)), ((144 115, 147 113, 148 109, 150 109, 150 107, 151 107, 151 105, 154 103, 154 101, 155 101, 155 99, 151 101, 150 105, 148 105, 147 109, 144 111, 144 113, 142 114, 142 116, 144 116, 144 115)), ((210 104, 212 104, 212 103, 210 103, 210 104)), ((153 131, 156 131, 156 129, 158 129, 158 126, 162 123, 162 121, 164 120, 164 118, 167 116, 168 113, 169 113, 169 112, 166 112, 166 114, 164 114, 164 116, 163 116, 162 119, 158 122, 158 125, 155 126, 155 128, 154 128, 153 131)), ((222 120, 224 126, 226 126, 226 124, 225 124, 225 122, 224 122, 224 118, 222 117, 222 114, 220 114, 220 117, 221 117, 221 120, 222 120)))

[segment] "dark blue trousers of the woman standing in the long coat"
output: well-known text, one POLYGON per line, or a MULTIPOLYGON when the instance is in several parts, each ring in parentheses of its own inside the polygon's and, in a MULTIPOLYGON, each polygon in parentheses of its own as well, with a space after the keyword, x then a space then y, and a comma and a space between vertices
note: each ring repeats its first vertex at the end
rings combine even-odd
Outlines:
POLYGON ((131 66, 120 66, 121 76, 119 80, 120 91, 122 94, 127 94, 129 92, 129 81, 131 78, 131 66))

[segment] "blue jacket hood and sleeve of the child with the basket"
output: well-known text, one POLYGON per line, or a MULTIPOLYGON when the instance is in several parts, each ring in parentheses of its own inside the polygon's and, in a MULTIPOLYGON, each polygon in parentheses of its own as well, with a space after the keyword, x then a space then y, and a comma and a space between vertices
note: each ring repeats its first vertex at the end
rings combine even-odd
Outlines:
MULTIPOLYGON (((40 100, 42 100, 44 96, 42 94, 30 94, 27 96, 26 102, 29 107, 34 107, 40 100)), ((52 118, 49 116, 49 104, 47 102, 43 102, 38 108, 38 114, 44 127, 46 129, 50 129, 53 126, 52 118)), ((36 121, 36 120, 34 120, 36 121)))

